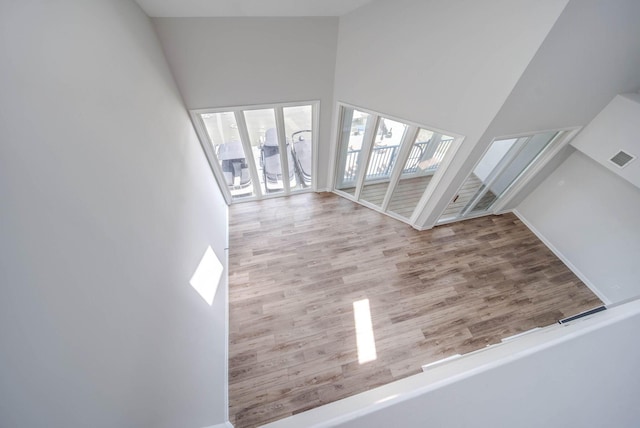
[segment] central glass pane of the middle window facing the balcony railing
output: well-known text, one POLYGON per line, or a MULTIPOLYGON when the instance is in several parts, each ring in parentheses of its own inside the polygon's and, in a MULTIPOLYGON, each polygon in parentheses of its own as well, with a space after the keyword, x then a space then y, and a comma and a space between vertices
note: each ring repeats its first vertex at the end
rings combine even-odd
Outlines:
POLYGON ((398 160, 400 143, 407 131, 407 125, 395 120, 381 118, 369 155, 369 164, 360 199, 382 206, 391 172, 398 160))

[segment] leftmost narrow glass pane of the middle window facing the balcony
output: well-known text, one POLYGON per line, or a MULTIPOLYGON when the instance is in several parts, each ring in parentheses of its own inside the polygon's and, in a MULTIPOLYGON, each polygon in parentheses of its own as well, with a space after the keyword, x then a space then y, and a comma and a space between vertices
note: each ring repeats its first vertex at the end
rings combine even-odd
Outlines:
POLYGON ((352 108, 342 109, 340 157, 338 161, 336 189, 355 194, 356 179, 362 161, 362 143, 370 115, 352 108))

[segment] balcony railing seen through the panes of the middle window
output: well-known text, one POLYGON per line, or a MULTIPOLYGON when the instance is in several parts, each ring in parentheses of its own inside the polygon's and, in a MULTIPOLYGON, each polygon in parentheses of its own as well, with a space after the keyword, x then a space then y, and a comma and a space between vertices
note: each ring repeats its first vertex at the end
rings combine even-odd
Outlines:
MULTIPOLYGON (((453 138, 449 138, 446 140, 441 140, 438 143, 438 147, 433 153, 433 156, 430 158, 431 162, 425 168, 420 168, 423 172, 435 172, 440 163, 442 163, 442 159, 444 155, 447 153, 449 146, 453 138)), ((419 164, 422 160, 422 156, 426 152, 429 141, 423 141, 419 143, 415 143, 413 147, 411 147, 411 152, 409 153, 409 159, 402 170, 403 175, 414 174, 418 171, 419 164)), ((400 146, 378 146, 374 147, 371 150, 371 158, 369 160, 369 166, 367 168, 367 175, 365 177, 366 180, 384 180, 388 179, 391 175, 391 170, 396 162, 396 157, 400 151, 400 146)), ((360 149, 358 150, 348 150, 347 151, 347 159, 344 168, 344 178, 343 182, 355 181, 356 176, 358 174, 358 157, 360 156, 360 149)))

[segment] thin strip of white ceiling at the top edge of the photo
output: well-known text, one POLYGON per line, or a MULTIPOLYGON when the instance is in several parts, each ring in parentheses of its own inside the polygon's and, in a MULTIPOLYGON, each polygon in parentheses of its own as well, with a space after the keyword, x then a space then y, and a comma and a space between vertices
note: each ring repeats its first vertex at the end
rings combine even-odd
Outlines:
POLYGON ((151 17, 342 16, 372 0, 136 0, 151 17))

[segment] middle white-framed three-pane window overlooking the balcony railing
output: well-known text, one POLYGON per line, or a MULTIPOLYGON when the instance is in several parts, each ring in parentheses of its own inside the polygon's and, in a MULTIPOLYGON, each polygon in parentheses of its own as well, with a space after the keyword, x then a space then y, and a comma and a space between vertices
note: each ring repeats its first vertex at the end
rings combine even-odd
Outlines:
POLYGON ((347 105, 340 108, 335 190, 413 224, 461 137, 347 105))

